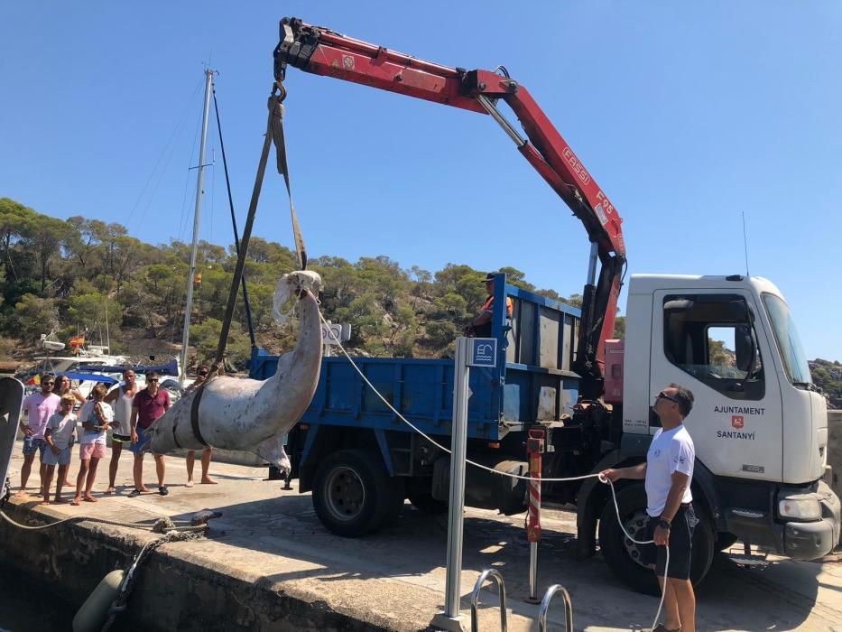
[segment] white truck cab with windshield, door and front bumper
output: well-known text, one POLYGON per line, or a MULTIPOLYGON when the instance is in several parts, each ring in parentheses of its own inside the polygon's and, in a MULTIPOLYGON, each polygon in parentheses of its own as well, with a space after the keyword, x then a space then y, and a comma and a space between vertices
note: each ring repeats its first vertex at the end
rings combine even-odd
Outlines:
POLYGON ((720 544, 739 538, 815 559, 839 541, 840 505, 821 479, 828 414, 782 293, 760 277, 635 274, 629 283, 623 449, 657 430, 654 396, 695 395, 685 420, 720 544), (723 344, 724 343, 724 344, 723 344))

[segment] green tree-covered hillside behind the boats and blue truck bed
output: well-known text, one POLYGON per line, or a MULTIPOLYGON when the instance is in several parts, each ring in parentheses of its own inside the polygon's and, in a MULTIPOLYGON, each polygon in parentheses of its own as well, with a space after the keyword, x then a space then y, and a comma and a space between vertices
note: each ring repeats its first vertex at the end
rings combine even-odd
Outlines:
MULTIPOLYGON (((217 348, 231 276, 233 246, 199 243, 200 283, 191 314, 191 359, 205 361, 217 348)), ((0 199, 0 359, 29 359, 42 333, 67 340, 79 333, 113 352, 137 359, 178 353, 190 246, 171 241, 153 246, 128 235, 120 224, 83 217, 66 221, 8 198, 0 199)), ((501 262, 506 263, 506 262, 501 262)), ((245 265, 258 344, 273 352, 290 349, 293 325, 272 317, 278 278, 293 270, 290 249, 252 237, 245 265)), ((440 357, 486 298, 485 270, 449 264, 430 272, 404 269, 386 256, 356 262, 333 256, 310 260, 325 290, 325 318, 351 324, 348 345, 373 356, 440 357)), ((510 283, 536 289, 514 267, 502 267, 510 283)), ((578 295, 569 297, 577 303, 578 295)), ((622 321, 621 321, 622 326, 622 321)), ((240 295, 228 340, 228 360, 243 367, 249 355, 245 308, 240 295)))

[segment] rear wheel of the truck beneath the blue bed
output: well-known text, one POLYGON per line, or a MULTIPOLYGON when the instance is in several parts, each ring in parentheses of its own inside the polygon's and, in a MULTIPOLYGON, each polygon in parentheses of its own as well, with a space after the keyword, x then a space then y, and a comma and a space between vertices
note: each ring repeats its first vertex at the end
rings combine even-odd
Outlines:
POLYGON ((397 513, 394 487, 379 454, 334 452, 316 470, 313 508, 328 531, 357 537, 374 531, 387 516, 397 513))

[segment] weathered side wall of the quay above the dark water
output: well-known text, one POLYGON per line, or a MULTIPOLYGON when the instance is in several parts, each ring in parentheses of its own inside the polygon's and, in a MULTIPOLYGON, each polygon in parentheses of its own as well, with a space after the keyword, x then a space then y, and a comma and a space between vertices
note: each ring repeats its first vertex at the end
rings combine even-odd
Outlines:
MULTIPOLYGON (((49 510, 48 510, 49 511, 49 510)), ((44 524, 32 507, 8 504, 22 523, 44 524)), ((20 573, 80 606, 106 573, 125 569, 142 544, 157 536, 96 523, 63 523, 24 531, 0 520, 0 572, 20 573)), ((384 629, 339 613, 318 596, 277 590, 269 577, 254 581, 227 567, 208 564, 193 550, 207 540, 168 544, 145 559, 128 609, 113 630, 143 632, 376 632, 384 629)))

